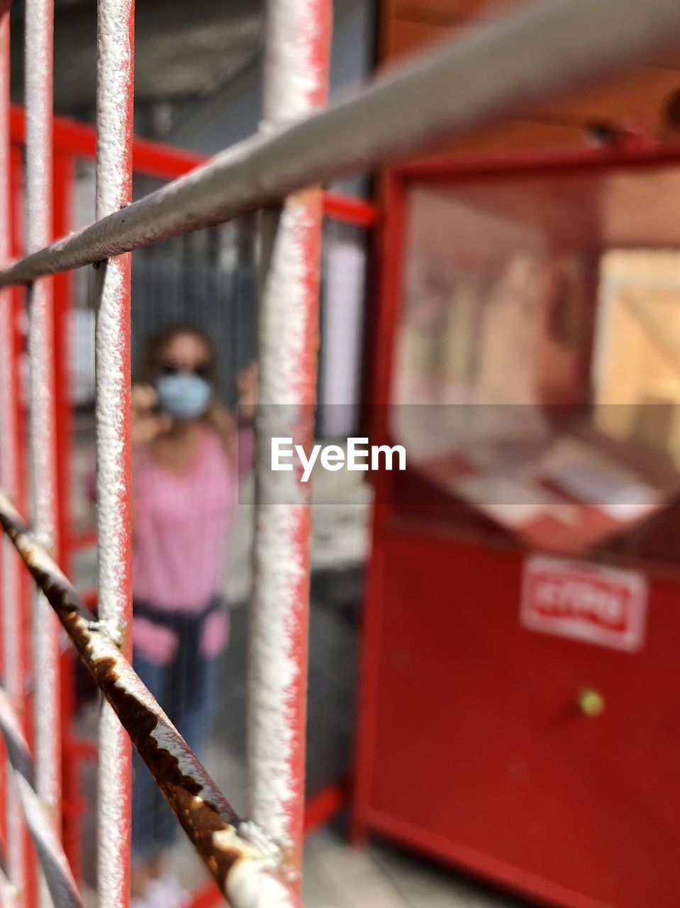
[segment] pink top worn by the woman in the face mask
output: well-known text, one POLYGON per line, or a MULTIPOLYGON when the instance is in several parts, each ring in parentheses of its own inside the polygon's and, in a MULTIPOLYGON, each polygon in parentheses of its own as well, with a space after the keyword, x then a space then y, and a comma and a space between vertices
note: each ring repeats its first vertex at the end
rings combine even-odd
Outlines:
POLYGON ((135 599, 168 611, 200 612, 219 589, 239 466, 243 472, 251 465, 251 432, 239 435, 239 465, 210 429, 192 467, 182 473, 139 452, 134 470, 135 599))

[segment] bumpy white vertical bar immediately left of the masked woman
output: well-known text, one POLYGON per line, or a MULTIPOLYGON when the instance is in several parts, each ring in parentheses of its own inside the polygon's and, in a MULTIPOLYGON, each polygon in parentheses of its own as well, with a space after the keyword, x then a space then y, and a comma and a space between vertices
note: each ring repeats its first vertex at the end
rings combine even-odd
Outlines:
MULTIPOLYGON (((133 0, 97 4, 97 220, 130 202, 133 168, 133 0)), ((132 654, 130 542, 130 253, 101 262, 96 280, 99 617, 132 654)), ((102 908, 130 897, 130 736, 103 700, 99 717, 97 888, 102 908)))

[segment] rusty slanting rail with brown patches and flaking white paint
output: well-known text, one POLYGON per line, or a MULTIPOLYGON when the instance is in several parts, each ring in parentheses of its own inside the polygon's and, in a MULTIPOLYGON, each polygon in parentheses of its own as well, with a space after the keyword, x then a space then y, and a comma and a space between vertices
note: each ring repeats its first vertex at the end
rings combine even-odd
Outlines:
POLYGON ((296 908, 297 896, 279 877, 280 849, 241 821, 120 652, 119 629, 95 620, 2 492, 0 525, 226 899, 234 908, 296 908))

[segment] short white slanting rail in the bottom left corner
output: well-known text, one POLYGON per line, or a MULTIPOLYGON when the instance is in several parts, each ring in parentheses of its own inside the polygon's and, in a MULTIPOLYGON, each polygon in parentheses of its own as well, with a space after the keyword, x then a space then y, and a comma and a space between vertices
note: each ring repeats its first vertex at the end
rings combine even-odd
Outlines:
MULTIPOLYGON (((21 723, 5 691, 0 688, 0 733, 5 739, 14 783, 26 825, 43 870, 54 908, 83 908, 64 848, 54 832, 54 819, 35 791, 35 767, 21 723)), ((3 902, 5 904, 5 902, 3 902)))

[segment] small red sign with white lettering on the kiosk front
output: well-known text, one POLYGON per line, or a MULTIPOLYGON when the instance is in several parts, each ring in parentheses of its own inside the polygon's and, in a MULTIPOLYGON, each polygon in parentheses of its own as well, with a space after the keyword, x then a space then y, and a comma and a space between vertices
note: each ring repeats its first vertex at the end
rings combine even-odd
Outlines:
POLYGON ((646 605, 646 580, 635 571, 538 555, 524 563, 521 619, 531 630, 639 649, 646 605))

